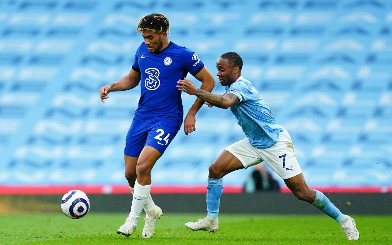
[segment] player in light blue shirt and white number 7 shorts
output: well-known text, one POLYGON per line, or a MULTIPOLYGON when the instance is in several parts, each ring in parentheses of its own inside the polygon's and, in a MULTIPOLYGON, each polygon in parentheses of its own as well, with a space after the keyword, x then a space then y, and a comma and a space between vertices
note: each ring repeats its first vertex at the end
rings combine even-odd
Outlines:
POLYGON ((178 90, 196 95, 205 100, 209 107, 230 107, 246 136, 227 147, 209 166, 207 217, 197 222, 185 223, 185 226, 192 230, 215 233, 218 230, 223 176, 265 161, 299 200, 311 203, 336 220, 348 240, 358 240, 359 232, 354 219, 342 214, 322 192, 307 186, 289 133, 275 121, 269 107, 260 98, 252 83, 243 78, 242 64, 240 55, 234 52, 222 54, 216 62, 216 75, 226 90, 222 95, 198 89, 186 78, 178 81, 178 90))

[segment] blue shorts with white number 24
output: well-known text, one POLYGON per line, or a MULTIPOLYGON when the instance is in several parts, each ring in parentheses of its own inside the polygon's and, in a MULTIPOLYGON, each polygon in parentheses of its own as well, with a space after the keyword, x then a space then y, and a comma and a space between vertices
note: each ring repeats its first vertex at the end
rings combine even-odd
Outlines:
POLYGON ((178 122, 171 123, 170 119, 152 121, 134 119, 125 138, 124 155, 138 157, 145 145, 154 147, 163 154, 178 130, 178 122))

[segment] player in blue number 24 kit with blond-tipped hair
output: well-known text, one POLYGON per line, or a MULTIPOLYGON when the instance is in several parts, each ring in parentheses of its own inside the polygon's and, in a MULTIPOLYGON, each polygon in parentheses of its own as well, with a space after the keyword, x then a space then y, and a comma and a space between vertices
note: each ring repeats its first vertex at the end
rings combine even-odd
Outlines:
MULTIPOLYGON (((212 91, 212 74, 196 53, 169 42, 169 20, 162 14, 143 16, 136 31, 142 32, 144 42, 134 56, 132 69, 118 82, 100 89, 102 102, 111 91, 124 91, 142 81, 139 106, 125 139, 125 178, 133 194, 131 212, 118 233, 129 236, 136 229, 140 213, 146 212, 143 238, 155 232, 155 223, 162 209, 152 201, 151 170, 181 127, 183 107, 177 81, 191 73, 202 82, 201 89, 212 91), (136 180, 137 178, 137 180, 136 180)), ((185 134, 196 130, 195 114, 204 101, 197 98, 184 120, 185 134)))

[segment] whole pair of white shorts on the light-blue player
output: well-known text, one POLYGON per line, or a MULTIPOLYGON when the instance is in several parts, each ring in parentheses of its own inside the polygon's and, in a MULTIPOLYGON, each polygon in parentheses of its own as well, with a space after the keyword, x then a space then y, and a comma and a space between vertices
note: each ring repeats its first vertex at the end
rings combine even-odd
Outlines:
POLYGON ((233 154, 245 169, 261 162, 266 162, 283 180, 302 172, 294 153, 294 146, 289 133, 284 129, 279 134, 278 142, 266 149, 251 145, 248 138, 229 145, 225 150, 233 154))

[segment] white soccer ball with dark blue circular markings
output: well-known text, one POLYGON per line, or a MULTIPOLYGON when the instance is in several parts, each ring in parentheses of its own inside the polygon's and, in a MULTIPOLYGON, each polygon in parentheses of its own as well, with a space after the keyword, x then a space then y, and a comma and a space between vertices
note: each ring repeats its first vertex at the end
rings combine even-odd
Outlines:
POLYGON ((90 209, 90 201, 83 191, 71 190, 64 194, 61 209, 69 218, 82 218, 90 209))

